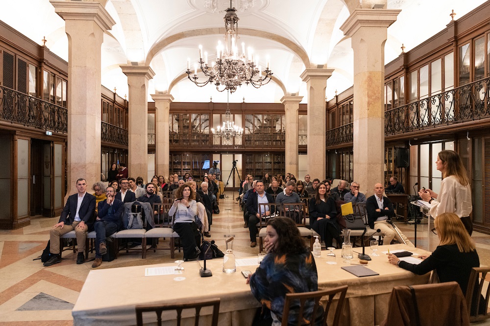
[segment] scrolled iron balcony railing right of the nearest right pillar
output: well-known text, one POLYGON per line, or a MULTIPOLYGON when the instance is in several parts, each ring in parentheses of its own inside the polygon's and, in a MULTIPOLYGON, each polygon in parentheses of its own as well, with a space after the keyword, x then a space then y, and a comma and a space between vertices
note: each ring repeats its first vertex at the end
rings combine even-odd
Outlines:
POLYGON ((385 136, 490 117, 490 77, 385 112, 385 136))

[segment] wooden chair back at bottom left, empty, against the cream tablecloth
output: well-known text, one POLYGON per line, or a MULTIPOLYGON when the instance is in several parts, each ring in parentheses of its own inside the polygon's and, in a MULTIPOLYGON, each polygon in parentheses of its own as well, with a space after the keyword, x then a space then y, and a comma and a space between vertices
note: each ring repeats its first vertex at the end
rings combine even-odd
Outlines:
POLYGON ((187 303, 153 303, 139 304, 136 306, 136 325, 143 326, 143 313, 154 311, 157 316, 157 325, 162 325, 162 312, 166 310, 177 310, 177 326, 180 326, 182 319, 182 310, 196 309, 196 320, 194 325, 199 325, 199 313, 202 307, 213 306, 212 326, 218 325, 218 317, 220 313, 220 298, 207 299, 202 301, 194 301, 187 303))

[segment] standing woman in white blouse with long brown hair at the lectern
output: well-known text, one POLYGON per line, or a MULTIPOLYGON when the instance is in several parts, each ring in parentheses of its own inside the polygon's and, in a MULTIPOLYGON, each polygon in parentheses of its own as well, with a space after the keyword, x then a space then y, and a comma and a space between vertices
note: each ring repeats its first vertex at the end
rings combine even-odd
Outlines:
POLYGON ((439 152, 436 168, 442 173, 441 194, 431 189, 420 190, 418 195, 432 204, 431 216, 442 213, 455 213, 463 222, 466 231, 473 233, 473 223, 469 214, 473 210, 471 205, 471 188, 463 161, 455 151, 444 150, 439 152))

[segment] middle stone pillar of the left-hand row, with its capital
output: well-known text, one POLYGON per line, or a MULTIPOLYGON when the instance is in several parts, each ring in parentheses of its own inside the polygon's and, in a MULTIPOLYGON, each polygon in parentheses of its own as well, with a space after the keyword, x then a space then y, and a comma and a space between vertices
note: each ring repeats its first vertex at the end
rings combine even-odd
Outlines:
POLYGON ((120 66, 129 88, 128 173, 145 182, 148 174, 148 80, 155 72, 147 66, 120 66))

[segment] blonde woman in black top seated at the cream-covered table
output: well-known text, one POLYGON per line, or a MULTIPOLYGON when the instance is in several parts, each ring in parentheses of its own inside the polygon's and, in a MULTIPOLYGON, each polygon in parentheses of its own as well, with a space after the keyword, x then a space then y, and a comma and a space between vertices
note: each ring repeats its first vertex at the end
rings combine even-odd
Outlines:
MULTIPOLYGON (((417 275, 424 275, 432 270, 437 271, 441 282, 455 281, 466 295, 468 279, 473 267, 480 267, 480 258, 476 252, 475 242, 467 233, 465 226, 458 215, 442 213, 434 220, 435 230, 439 237, 439 246, 430 256, 421 255, 420 264, 411 264, 400 260, 393 254, 388 255, 388 261, 393 265, 411 271, 417 275)), ((473 302, 478 296, 478 284, 475 284, 473 302)), ((480 294, 481 295, 481 294, 480 294)), ((485 312, 485 300, 480 298, 479 313, 485 312)), ((476 305, 471 307, 471 314, 476 312, 476 305)))

